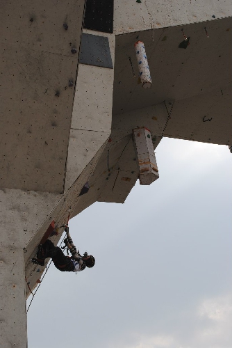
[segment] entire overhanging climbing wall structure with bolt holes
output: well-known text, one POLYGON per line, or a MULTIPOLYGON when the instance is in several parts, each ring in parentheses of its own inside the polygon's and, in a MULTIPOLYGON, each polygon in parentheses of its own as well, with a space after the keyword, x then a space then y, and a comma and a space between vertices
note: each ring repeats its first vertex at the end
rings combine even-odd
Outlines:
MULTIPOLYGON (((149 129, 144 166, 153 178, 163 136, 231 147, 232 10, 230 0, 22 0, 3 2, 1 13, 0 329, 8 348, 26 347, 24 290, 40 283, 44 267, 30 260, 51 222, 60 227, 69 211, 97 200, 124 203, 141 181, 133 129, 149 129), (139 59, 136 42, 146 52, 139 59)), ((56 232, 49 238, 58 244, 63 229, 56 232)))

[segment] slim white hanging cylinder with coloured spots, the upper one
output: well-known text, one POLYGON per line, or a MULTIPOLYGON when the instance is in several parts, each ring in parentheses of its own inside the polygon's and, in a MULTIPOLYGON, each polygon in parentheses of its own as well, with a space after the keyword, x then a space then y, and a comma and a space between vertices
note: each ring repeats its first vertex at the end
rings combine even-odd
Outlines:
POLYGON ((142 41, 135 42, 135 52, 138 61, 138 70, 140 72, 140 79, 143 88, 151 88, 151 74, 147 62, 147 55, 142 41))

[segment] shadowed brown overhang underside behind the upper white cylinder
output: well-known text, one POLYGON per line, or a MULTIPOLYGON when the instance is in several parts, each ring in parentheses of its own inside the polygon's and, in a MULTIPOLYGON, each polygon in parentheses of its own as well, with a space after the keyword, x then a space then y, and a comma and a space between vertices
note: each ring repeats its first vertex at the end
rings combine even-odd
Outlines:
POLYGON ((231 18, 116 36, 113 114, 182 100, 231 84, 231 18), (208 38, 205 28, 208 32, 208 38), (187 49, 179 49, 185 35, 187 49), (142 88, 134 43, 142 40, 153 86, 142 88))

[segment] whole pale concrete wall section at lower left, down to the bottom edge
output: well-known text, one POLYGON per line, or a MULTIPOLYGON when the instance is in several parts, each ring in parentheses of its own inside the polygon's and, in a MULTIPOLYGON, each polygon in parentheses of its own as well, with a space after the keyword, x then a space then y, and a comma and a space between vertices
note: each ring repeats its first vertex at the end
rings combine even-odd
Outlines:
POLYGON ((1 190, 1 347, 27 347, 25 247, 59 199, 49 193, 1 190))

